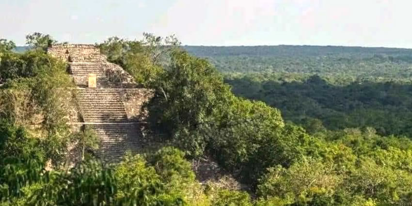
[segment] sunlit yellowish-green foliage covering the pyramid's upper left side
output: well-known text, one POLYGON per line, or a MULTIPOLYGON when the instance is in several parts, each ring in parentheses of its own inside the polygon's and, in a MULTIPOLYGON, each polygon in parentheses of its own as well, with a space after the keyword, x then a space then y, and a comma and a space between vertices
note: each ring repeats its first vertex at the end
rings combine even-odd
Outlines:
POLYGON ((73 83, 66 64, 39 50, 7 53, 0 62, 0 118, 46 138, 47 156, 57 163, 70 139, 67 111, 73 83), (2 82, 2 83, 3 83, 2 82))

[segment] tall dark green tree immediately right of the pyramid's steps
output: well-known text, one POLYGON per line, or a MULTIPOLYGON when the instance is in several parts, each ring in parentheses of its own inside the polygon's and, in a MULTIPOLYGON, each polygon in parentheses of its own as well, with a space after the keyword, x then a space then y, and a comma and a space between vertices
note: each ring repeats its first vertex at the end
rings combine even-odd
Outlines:
POLYGON ((207 127, 204 123, 230 99, 229 86, 206 60, 174 51, 156 88, 156 96, 149 107, 150 118, 160 123, 158 127, 171 134, 188 154, 202 154, 207 134, 197 129, 207 127))

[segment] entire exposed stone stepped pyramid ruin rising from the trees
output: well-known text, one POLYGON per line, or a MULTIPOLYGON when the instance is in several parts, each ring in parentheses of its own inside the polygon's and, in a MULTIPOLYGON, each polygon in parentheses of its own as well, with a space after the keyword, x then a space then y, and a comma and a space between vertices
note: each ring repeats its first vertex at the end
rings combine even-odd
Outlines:
POLYGON ((78 87, 79 104, 79 117, 71 118, 78 121, 72 124, 95 131, 99 140, 95 154, 113 161, 126 151, 139 152, 146 125, 142 105, 153 91, 139 88, 122 67, 109 63, 94 45, 53 45, 48 53, 69 65, 68 72, 78 87))

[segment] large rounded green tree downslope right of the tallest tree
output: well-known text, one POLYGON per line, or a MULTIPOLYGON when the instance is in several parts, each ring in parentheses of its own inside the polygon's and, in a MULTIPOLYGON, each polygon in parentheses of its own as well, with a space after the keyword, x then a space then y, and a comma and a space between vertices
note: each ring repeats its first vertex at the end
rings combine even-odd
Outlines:
POLYGON ((278 110, 263 102, 231 99, 210 123, 215 124, 209 134, 210 151, 222 166, 240 173, 246 182, 254 183, 256 176, 273 162, 291 161, 282 154, 283 150, 293 151, 284 151, 289 157, 299 154, 293 147, 284 146, 297 141, 281 135, 284 122, 278 110))

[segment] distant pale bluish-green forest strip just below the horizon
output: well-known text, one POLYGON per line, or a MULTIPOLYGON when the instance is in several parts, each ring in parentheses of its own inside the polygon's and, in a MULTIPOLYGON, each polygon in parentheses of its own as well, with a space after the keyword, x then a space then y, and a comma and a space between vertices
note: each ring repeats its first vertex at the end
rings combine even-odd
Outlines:
POLYGON ((286 72, 355 78, 412 76, 412 49, 332 46, 184 48, 193 55, 207 58, 224 73, 286 72))

